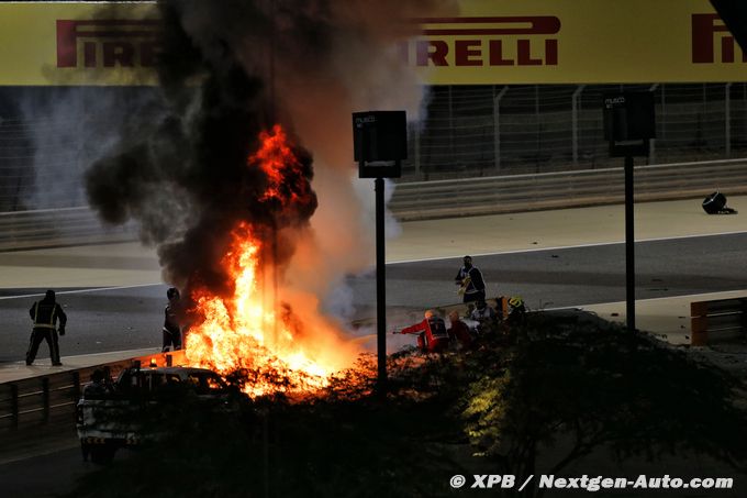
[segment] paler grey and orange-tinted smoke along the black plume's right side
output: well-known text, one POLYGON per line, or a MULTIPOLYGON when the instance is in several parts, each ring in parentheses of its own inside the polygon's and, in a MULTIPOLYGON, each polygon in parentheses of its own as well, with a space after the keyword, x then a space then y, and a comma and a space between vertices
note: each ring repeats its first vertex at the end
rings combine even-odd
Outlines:
MULTIPOLYGON (((345 279, 370 272, 376 254, 374 180, 357 178, 352 113, 404 110, 409 121, 421 119, 426 87, 400 57, 399 44, 406 34, 395 33, 392 26, 404 25, 409 18, 454 13, 455 4, 354 0, 345 5, 326 19, 338 27, 328 58, 299 64, 296 57, 279 56, 275 86, 294 130, 314 155, 313 187, 319 197, 311 219, 314 236, 301 242, 298 251, 303 256, 293 259, 288 275, 296 284, 313 283, 328 311, 350 317, 353 292, 345 279), (309 261, 314 264, 305 264, 309 261)), ((387 202, 393 190, 388 180, 387 202)), ((387 237, 400 231, 387 211, 387 237)))

